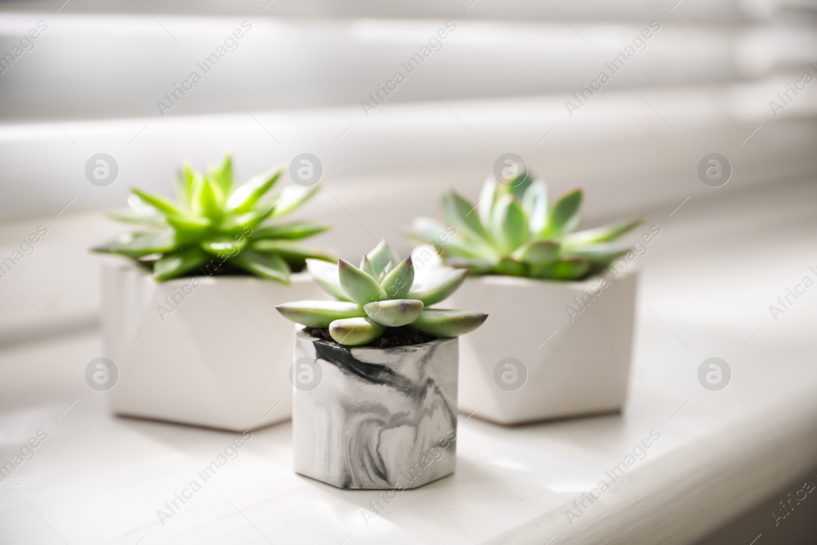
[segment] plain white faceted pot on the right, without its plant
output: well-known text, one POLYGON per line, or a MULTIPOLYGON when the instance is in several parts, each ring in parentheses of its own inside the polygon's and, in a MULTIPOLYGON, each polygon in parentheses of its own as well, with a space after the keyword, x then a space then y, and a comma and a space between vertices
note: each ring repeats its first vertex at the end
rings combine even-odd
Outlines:
POLYGON ((459 410, 520 424, 622 408, 636 273, 556 282, 469 278, 445 302, 486 312, 461 337, 459 410), (605 283, 609 283, 603 287, 605 283))

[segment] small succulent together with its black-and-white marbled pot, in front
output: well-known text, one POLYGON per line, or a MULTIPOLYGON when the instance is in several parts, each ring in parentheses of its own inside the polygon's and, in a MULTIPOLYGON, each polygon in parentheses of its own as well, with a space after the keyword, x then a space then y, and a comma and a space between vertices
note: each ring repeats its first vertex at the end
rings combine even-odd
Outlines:
POLYGON ((454 471, 458 340, 488 315, 427 308, 465 270, 414 278, 385 242, 360 268, 307 260, 337 301, 279 305, 297 324, 295 471, 346 489, 410 489, 454 471))

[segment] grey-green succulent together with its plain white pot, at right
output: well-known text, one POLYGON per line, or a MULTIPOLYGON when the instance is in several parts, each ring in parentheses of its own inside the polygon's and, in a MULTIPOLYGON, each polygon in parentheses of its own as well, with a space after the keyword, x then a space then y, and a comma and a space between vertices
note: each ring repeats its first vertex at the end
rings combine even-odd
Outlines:
POLYGON ((636 274, 617 239, 640 221, 577 232, 582 197, 551 203, 545 183, 522 172, 486 181, 476 205, 443 194, 449 226, 413 222, 413 240, 471 271, 454 304, 502 316, 463 338, 463 412, 518 424, 623 406, 636 274))

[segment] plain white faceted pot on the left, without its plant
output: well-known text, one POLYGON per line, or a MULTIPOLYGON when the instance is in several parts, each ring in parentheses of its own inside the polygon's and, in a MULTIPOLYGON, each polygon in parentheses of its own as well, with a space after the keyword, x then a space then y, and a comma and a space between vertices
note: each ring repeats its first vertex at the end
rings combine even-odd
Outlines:
POLYGON ((315 298, 309 275, 291 286, 249 275, 156 282, 111 258, 102 289, 113 413, 231 431, 291 417, 292 322, 275 306, 315 298))

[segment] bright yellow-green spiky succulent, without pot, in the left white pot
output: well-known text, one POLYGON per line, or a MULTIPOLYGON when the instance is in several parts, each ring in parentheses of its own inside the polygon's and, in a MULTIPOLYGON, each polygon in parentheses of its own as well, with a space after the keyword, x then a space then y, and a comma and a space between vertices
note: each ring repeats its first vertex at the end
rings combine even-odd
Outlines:
POLYGON ((131 188, 131 208, 109 214, 150 230, 126 233, 93 249, 152 264, 157 280, 197 269, 211 275, 227 264, 231 270, 289 284, 290 272, 301 270, 307 258, 334 258, 297 242, 328 226, 302 220, 270 222, 300 207, 320 189, 319 184, 289 185, 277 198, 268 197, 284 171, 283 166, 273 168, 234 187, 229 154, 208 172, 195 172, 185 163, 174 185, 176 201, 131 188))

